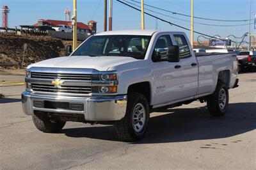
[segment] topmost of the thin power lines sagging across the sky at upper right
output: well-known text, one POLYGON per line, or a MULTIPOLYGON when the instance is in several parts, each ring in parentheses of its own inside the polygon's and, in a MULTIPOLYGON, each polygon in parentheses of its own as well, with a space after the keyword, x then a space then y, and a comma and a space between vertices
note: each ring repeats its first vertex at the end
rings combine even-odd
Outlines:
MULTIPOLYGON (((134 0, 131 0, 131 1, 133 1, 134 3, 139 3, 139 4, 140 4, 140 2, 138 2, 138 1, 134 1, 134 0)), ((144 5, 145 5, 145 6, 149 6, 149 7, 151 7, 151 8, 155 8, 155 9, 157 9, 157 10, 163 10, 164 12, 170 12, 170 13, 172 13, 172 14, 182 15, 182 16, 184 16, 184 17, 191 17, 191 15, 186 15, 186 14, 184 14, 184 13, 178 13, 178 12, 172 12, 172 11, 170 11, 170 10, 165 10, 165 9, 163 9, 163 8, 158 8, 158 7, 152 6, 152 5, 150 5, 150 4, 145 4, 145 3, 144 3, 144 5)), ((249 21, 248 19, 244 19, 244 20, 220 20, 220 19, 209 19, 209 18, 195 17, 195 16, 194 16, 194 18, 195 18, 195 19, 204 19, 204 20, 221 21, 221 22, 246 22, 246 21, 249 21)))

